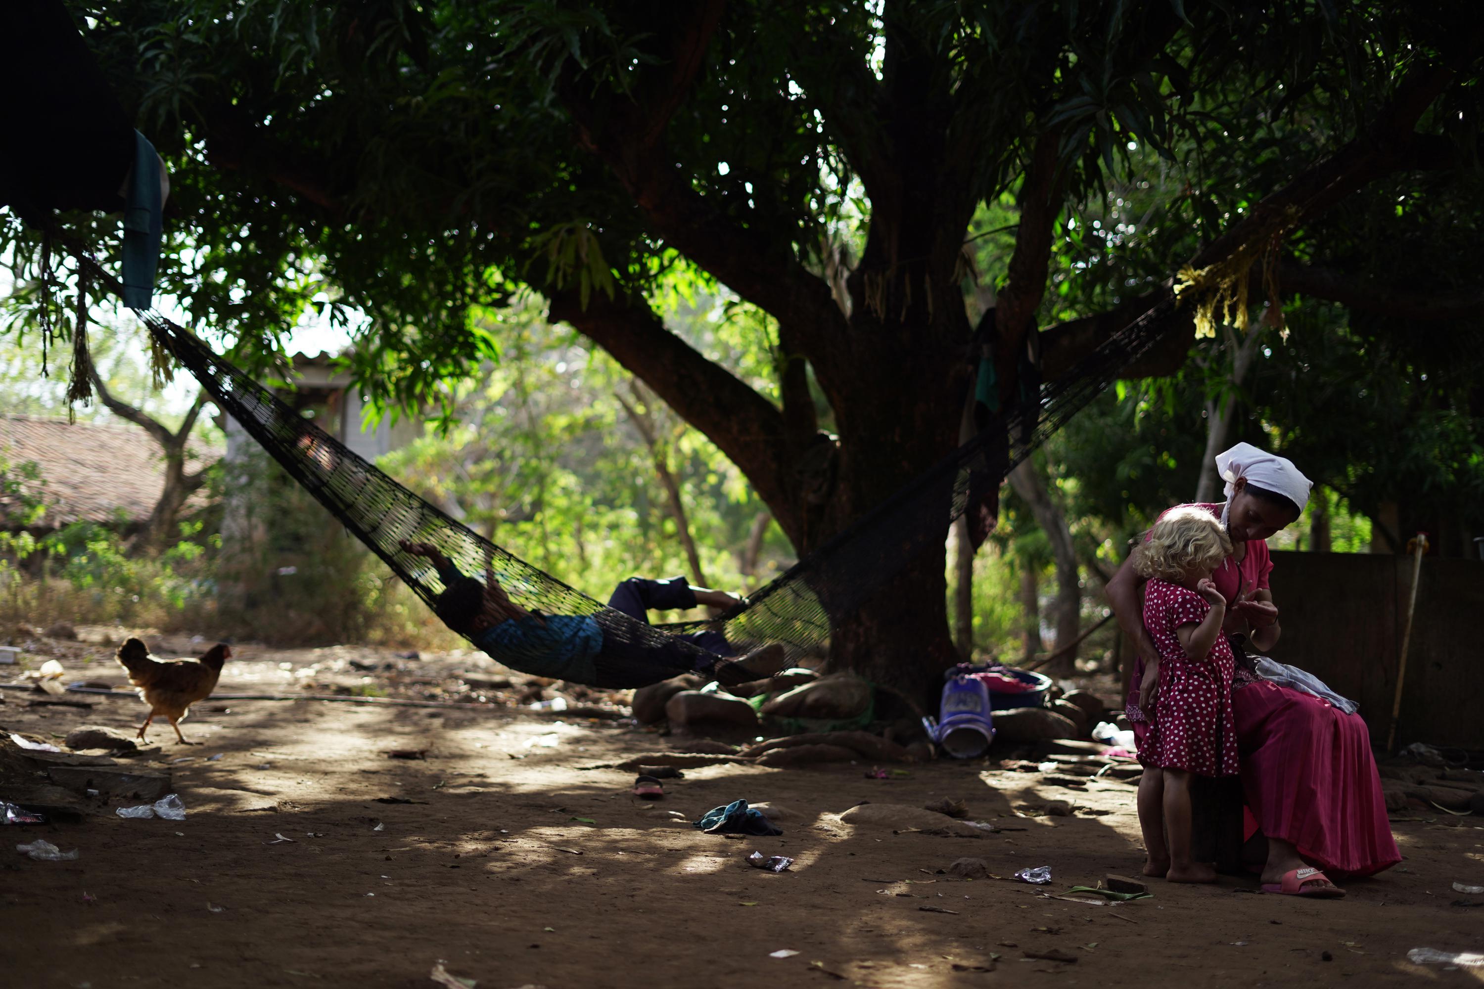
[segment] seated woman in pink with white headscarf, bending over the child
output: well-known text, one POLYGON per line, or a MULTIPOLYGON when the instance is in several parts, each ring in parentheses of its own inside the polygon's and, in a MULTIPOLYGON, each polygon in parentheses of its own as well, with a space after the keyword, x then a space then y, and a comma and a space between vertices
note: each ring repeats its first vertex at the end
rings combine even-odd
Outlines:
MULTIPOLYGON (((1212 574, 1229 608, 1224 632, 1233 645, 1272 648, 1282 632, 1269 589, 1273 569, 1267 537, 1293 525, 1309 501, 1310 482, 1294 464, 1248 443, 1215 458, 1226 480, 1223 504, 1198 504, 1226 526, 1233 552, 1212 574)), ((1119 626, 1137 644, 1128 719, 1140 738, 1159 692, 1159 651, 1144 630, 1143 580, 1125 562, 1109 581, 1119 626)), ((1298 666, 1303 663, 1300 661, 1298 666)), ((1321 870, 1365 876, 1401 861, 1382 796, 1370 731, 1359 715, 1327 700, 1258 679, 1239 669, 1232 713, 1242 790, 1267 839, 1261 882, 1273 893, 1334 896, 1321 870)), ((1155 774, 1140 784, 1140 813, 1159 813, 1155 774)), ((1168 869, 1163 848, 1149 850, 1146 872, 1168 869)))

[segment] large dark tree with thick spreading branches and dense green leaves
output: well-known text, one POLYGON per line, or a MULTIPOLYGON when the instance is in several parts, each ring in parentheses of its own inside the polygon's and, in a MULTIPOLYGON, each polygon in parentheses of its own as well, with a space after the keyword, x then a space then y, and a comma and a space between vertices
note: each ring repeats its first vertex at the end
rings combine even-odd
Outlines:
MULTIPOLYGON (((1379 178, 1453 168, 1477 119, 1462 3, 70 6, 171 162, 190 249, 165 277, 193 314, 272 347, 312 301, 361 308, 359 374, 414 403, 497 350, 470 307, 528 286, 801 553, 954 446, 976 332, 1009 405, 1033 338, 1067 374, 1181 264, 1257 258, 1379 178), (1106 310, 1046 325, 1079 208, 1158 154, 1184 171, 1184 236, 1149 239, 1106 310), (1012 246, 975 270, 991 206, 1012 246), (766 314, 772 390, 666 329, 677 279, 766 314), (971 320, 975 280, 997 292, 971 320)), ((1162 319, 1132 374, 1183 362, 1189 311, 1162 319)), ((944 592, 930 553, 837 623, 834 655, 926 691, 954 658, 944 592)))

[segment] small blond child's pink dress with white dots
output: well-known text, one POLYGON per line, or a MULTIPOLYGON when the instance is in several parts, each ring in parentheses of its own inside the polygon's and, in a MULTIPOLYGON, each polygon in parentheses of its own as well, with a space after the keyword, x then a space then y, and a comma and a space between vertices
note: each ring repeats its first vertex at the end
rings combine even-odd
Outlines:
POLYGON ((1198 775, 1236 775, 1232 721, 1235 661, 1224 635, 1202 658, 1190 658, 1175 629, 1199 624, 1211 603, 1193 590, 1152 580, 1144 584, 1144 627, 1159 649, 1159 700, 1138 761, 1198 775))

